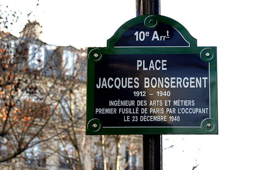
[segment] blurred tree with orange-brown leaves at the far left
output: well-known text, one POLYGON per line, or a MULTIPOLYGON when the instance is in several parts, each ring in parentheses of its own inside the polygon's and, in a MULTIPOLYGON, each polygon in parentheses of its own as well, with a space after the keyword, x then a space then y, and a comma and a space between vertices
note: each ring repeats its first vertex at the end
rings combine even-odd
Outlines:
MULTIPOLYGON (((73 100, 77 82, 85 80, 85 77, 80 74, 84 71, 80 67, 82 57, 77 56, 79 62, 67 66, 70 63, 61 59, 63 48, 52 49, 49 54, 45 54, 48 52, 43 51, 45 43, 31 34, 31 28, 27 28, 23 36, 17 38, 6 31, 8 17, 0 24, 3 28, 0 32, 1 163, 39 143, 56 139, 70 127, 74 130, 74 115, 71 115, 71 121, 65 129, 58 129, 57 133, 53 131, 55 126, 50 120, 53 117, 55 120, 67 94, 73 100), (46 55, 48 60, 45 59, 46 55)), ((78 52, 81 54, 84 51, 78 52)), ((73 101, 71 103, 73 105, 73 101)), ((71 113, 74 114, 72 110, 71 113)), ((72 135, 76 138, 74 131, 72 135)), ((79 152, 76 156, 79 156, 79 152)))

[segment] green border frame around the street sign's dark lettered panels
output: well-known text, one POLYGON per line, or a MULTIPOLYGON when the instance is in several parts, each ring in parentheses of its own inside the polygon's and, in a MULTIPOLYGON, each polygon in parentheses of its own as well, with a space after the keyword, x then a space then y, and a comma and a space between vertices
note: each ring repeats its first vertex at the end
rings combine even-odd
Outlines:
MULTIPOLYGON (((87 135, 118 134, 218 134, 217 113, 217 48, 197 47, 197 40, 177 21, 161 15, 143 15, 124 23, 107 41, 107 47, 88 48, 87 63, 87 135), (147 28, 156 28, 158 23, 166 23, 177 30, 189 43, 188 47, 115 47, 118 40, 131 27, 144 23, 147 28), (101 120, 95 118, 95 66, 104 55, 124 54, 199 54, 204 62, 209 63, 209 109, 210 116, 201 122, 199 127, 112 127, 106 128, 101 120), (210 56, 209 56, 210 55, 210 56)), ((104 95, 104 94, 102 94, 104 95)))

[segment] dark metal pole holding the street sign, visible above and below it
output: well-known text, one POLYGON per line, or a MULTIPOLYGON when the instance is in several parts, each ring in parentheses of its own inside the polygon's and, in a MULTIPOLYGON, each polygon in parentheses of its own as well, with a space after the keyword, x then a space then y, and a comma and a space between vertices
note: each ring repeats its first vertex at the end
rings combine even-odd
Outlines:
MULTIPOLYGON (((136 15, 160 15, 160 0, 136 0, 136 15)), ((162 135, 143 135, 143 170, 162 170, 162 135)))

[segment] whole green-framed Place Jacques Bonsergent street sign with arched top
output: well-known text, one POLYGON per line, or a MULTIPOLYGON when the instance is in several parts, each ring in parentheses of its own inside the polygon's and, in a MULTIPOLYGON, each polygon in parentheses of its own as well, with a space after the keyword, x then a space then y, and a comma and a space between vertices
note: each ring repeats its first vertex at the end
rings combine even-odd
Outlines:
POLYGON ((161 15, 88 48, 86 134, 218 134, 216 47, 161 15))

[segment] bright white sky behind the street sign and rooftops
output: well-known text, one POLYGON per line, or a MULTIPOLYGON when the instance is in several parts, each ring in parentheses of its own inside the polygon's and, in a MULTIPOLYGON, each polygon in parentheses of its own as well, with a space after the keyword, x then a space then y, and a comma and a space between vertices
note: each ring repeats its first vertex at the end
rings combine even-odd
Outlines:
MULTIPOLYGON (((76 48, 105 47, 136 17, 135 0, 9 0, 2 6, 33 13, 42 40, 76 48), (37 5, 39 4, 39 5, 37 5)), ((198 46, 217 47, 218 135, 164 135, 163 170, 256 169, 255 4, 252 0, 161 0, 161 15, 180 22, 198 46)), ((25 15, 26 16, 26 15, 25 15)), ((19 36, 26 17, 10 32, 19 36)))

